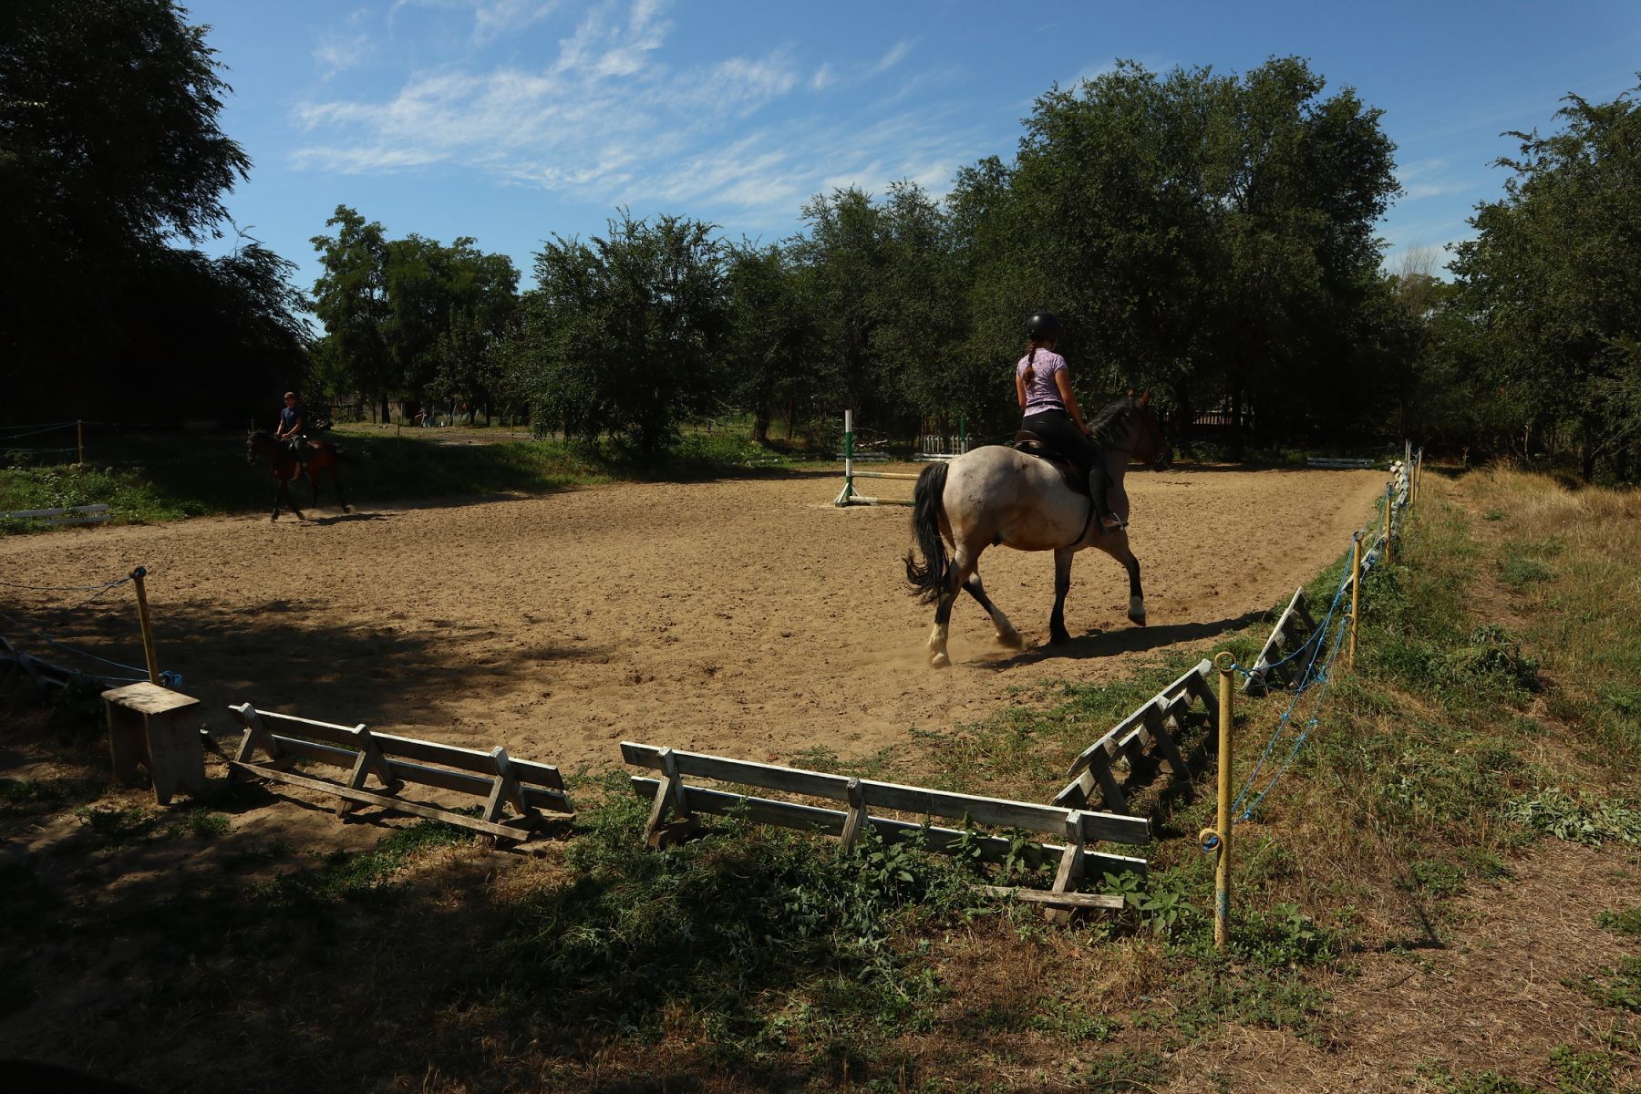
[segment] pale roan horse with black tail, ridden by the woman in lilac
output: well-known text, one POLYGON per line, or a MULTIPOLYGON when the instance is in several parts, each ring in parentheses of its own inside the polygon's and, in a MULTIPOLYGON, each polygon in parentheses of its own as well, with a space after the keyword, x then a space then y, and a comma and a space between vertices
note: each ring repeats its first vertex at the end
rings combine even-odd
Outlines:
MULTIPOLYGON (((1150 394, 1119 399, 1090 425, 1104 449, 1111 476, 1111 512, 1127 523, 1129 500, 1122 474, 1129 458, 1165 467, 1173 453, 1162 435, 1150 394)), ((935 604, 929 633, 929 664, 937 669, 952 661, 945 653, 947 625, 960 590, 968 590, 986 609, 998 641, 1021 648, 1019 631, 980 584, 980 553, 988 546, 1017 551, 1054 551, 1054 613, 1049 641, 1070 641, 1065 630, 1065 594, 1072 587, 1072 558, 1083 548, 1099 548, 1122 563, 1129 574, 1129 618, 1145 623, 1145 594, 1139 584, 1139 559, 1129 549, 1127 530, 1106 531, 1091 520, 1086 494, 1073 492, 1058 467, 1037 456, 990 444, 950 463, 929 464, 917 476, 912 502, 912 536, 922 553, 906 553, 906 579, 924 604, 935 604), (950 545, 950 551, 947 551, 950 545)))

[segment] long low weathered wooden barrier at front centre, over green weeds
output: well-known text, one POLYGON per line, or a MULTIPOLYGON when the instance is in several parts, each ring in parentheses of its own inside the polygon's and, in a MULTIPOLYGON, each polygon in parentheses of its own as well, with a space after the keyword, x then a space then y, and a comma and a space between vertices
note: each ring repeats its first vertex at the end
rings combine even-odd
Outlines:
MULTIPOLYGON (((656 840, 656 830, 670 814, 679 818, 689 818, 696 814, 745 814, 758 823, 837 836, 843 841, 845 848, 855 843, 866 825, 871 825, 888 841, 917 841, 924 850, 942 853, 952 853, 958 848, 968 851, 978 850, 980 858, 986 863, 1006 861, 1021 850, 1016 841, 999 835, 976 835, 960 828, 940 828, 891 817, 873 817, 868 812, 871 809, 884 809, 973 825, 1021 828, 1037 835, 1063 838, 1065 843, 1032 841, 1026 845, 1031 853, 1040 855, 1044 861, 1058 858, 1058 869, 1050 891, 1022 889, 1016 894, 1021 899, 1039 904, 1067 909, 1116 909, 1122 905, 1121 897, 1080 894, 1075 892, 1076 882, 1088 874, 1090 868, 1098 873, 1145 873, 1145 859, 1142 858, 1090 850, 1090 845, 1096 841, 1124 845, 1149 843, 1150 822, 1144 817, 1118 817, 1085 809, 952 794, 799 768, 725 759, 724 756, 656 748, 637 741, 622 741, 620 751, 629 764, 661 774, 660 779, 632 776, 633 794, 651 799, 650 820, 643 828, 647 843, 656 840), (684 782, 686 776, 843 802, 847 809, 802 805, 771 797, 753 797, 689 786, 684 782)), ((988 891, 999 896, 1014 892, 1012 889, 996 886, 988 887, 988 891)))

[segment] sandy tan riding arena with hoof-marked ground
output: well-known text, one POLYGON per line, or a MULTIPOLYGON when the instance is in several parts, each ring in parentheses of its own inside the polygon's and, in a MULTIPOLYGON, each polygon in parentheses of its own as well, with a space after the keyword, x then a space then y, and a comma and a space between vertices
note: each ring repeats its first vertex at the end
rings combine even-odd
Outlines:
MULTIPOLYGON (((1042 677, 1109 679, 1247 623, 1346 548, 1383 476, 1131 474, 1150 625, 1124 618, 1122 569, 1085 551, 1067 600, 1073 641, 1049 646, 1052 554, 993 549, 986 589, 1027 648, 999 648, 963 597, 947 671, 922 650, 932 609, 906 594, 909 510, 834 508, 839 482, 804 472, 417 507, 366 499, 351 517, 327 507, 307 522, 16 536, 0 558, 31 586, 146 566, 161 668, 184 674, 223 732, 225 705, 251 700, 505 745, 566 771, 619 764, 622 738, 847 758, 909 727, 983 717, 1042 677)), ((128 587, 77 612, 51 607, 72 604, 64 594, 13 602, 59 638, 141 661, 128 587)))

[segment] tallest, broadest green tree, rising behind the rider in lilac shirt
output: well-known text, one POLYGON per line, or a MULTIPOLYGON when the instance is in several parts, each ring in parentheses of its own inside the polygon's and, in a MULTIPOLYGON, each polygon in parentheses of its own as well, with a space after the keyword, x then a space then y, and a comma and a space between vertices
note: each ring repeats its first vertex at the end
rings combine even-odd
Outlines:
POLYGON ((1380 112, 1323 90, 1277 57, 1241 79, 1121 62, 1049 92, 1009 200, 990 202, 1017 256, 990 262, 976 303, 1034 292, 1014 313, 1060 312, 1088 382, 1160 387, 1185 418, 1206 394, 1239 417, 1257 408, 1267 433, 1346 425, 1354 412, 1326 405, 1321 377, 1349 364, 1344 331, 1370 318, 1372 228, 1396 184, 1380 112))

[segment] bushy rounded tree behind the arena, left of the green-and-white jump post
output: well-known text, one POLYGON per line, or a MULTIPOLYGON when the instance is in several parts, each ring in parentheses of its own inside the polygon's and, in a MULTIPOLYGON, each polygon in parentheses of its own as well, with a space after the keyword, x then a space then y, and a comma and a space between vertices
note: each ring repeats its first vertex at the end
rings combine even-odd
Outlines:
POLYGON ((643 458, 676 440, 722 390, 724 248, 712 226, 622 212, 606 236, 555 236, 525 295, 535 356, 535 425, 596 441, 610 433, 643 458))

